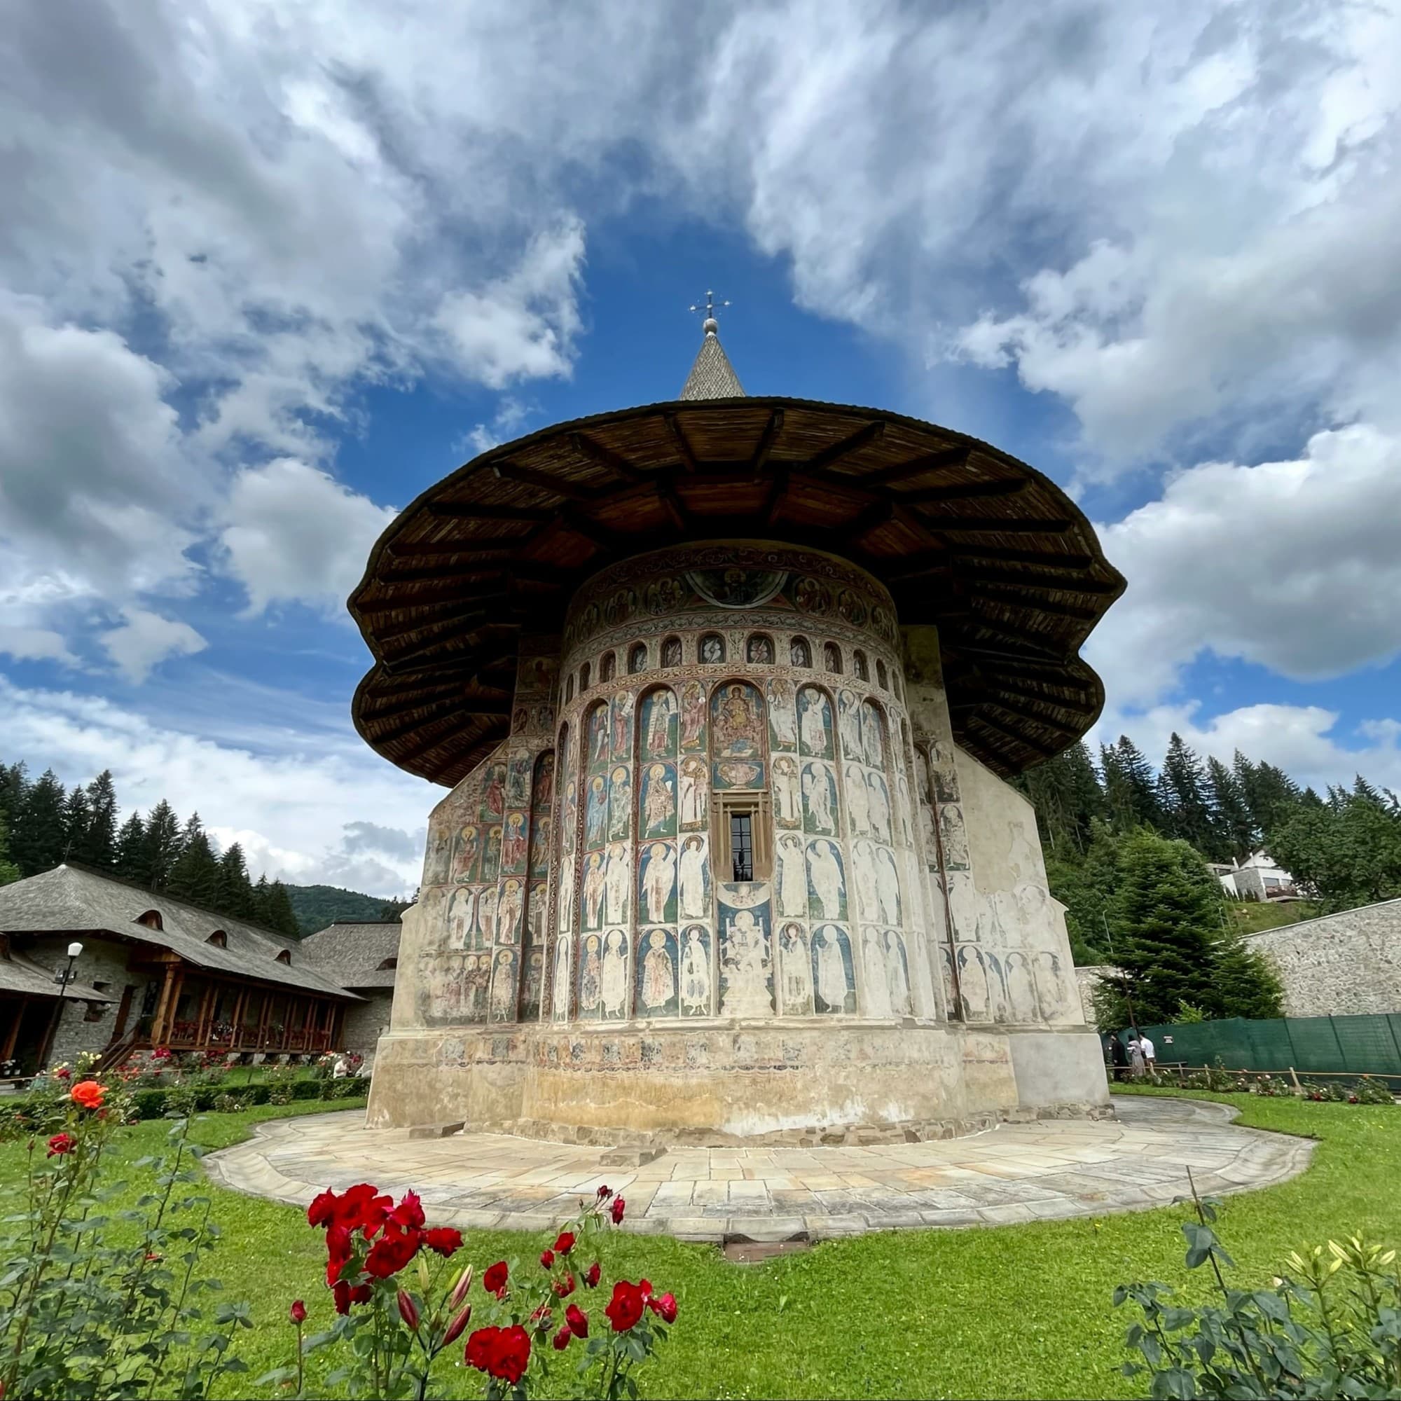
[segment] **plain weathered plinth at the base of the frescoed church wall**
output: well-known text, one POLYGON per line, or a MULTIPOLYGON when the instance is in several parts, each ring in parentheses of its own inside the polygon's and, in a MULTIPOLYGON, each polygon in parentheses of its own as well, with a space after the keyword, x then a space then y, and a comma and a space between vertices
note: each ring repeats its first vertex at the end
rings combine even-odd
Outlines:
POLYGON ((904 1019, 814 1026, 441 1028, 380 1041, 367 1122, 588 1145, 918 1143, 1002 1121, 1100 1117, 1087 1028, 904 1019))

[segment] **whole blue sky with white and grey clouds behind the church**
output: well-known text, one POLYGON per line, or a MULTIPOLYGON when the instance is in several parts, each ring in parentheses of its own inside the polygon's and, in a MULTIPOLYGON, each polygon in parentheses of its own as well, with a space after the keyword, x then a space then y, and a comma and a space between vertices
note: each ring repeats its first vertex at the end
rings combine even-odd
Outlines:
POLYGON ((0 759, 412 888, 349 723, 394 511, 745 387, 1049 472, 1129 593, 1105 734, 1401 786, 1401 15, 48 0, 0 34, 0 759))

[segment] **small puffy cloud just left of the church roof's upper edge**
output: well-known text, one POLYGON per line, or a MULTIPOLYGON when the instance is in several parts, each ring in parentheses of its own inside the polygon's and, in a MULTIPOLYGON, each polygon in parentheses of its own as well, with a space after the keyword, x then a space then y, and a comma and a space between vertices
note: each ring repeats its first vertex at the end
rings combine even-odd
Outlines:
POLYGON ((294 458, 234 478, 220 534, 251 612, 300 601, 340 614, 394 511, 294 458))

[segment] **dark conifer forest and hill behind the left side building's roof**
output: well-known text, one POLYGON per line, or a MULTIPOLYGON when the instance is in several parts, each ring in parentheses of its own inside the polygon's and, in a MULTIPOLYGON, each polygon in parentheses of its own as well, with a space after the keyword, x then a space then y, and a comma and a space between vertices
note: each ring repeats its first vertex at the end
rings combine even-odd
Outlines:
POLYGON ((326 885, 294 887, 248 874, 242 848, 217 850, 191 813, 164 799, 143 818, 120 820, 112 775, 64 790, 52 769, 29 779, 22 764, 0 765, 0 885, 63 862, 106 871, 233 919, 300 939, 338 918, 394 918, 403 905, 326 885), (296 904, 308 895, 298 920, 296 904), (343 897, 338 899, 336 897, 343 897))

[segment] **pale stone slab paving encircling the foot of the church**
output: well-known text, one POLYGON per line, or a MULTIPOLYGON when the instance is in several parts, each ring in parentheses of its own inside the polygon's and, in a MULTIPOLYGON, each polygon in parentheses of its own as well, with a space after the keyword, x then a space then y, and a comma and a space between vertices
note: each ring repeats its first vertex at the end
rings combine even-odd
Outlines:
POLYGON ((607 1182, 626 1229, 682 1240, 807 1236, 897 1226, 979 1226, 1161 1206, 1188 1191, 1238 1192, 1307 1167, 1313 1143, 1231 1124, 1188 1100, 1115 1100, 1118 1121, 1003 1124, 969 1138, 871 1147, 672 1147, 605 1167, 605 1147, 492 1133, 409 1139, 359 1111, 275 1119, 205 1159, 228 1187, 304 1206, 324 1187, 417 1191, 440 1224, 548 1230, 607 1182))

